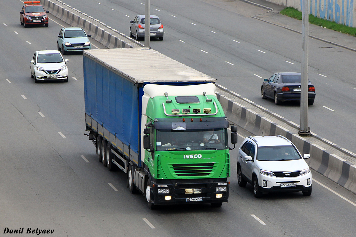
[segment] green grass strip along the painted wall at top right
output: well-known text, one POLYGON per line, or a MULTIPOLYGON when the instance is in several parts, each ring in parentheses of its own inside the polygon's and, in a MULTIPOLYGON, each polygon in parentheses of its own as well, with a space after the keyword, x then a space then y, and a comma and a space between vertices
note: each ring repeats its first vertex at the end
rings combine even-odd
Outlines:
MULTIPOLYGON (((294 7, 286 7, 281 12, 283 15, 293 17, 298 20, 302 20, 302 12, 298 11, 294 7)), ((328 21, 309 14, 309 23, 317 26, 321 26, 328 29, 333 29, 334 31, 339 31, 341 33, 350 34, 351 36, 356 36, 356 28, 345 26, 336 23, 335 21, 328 21)))

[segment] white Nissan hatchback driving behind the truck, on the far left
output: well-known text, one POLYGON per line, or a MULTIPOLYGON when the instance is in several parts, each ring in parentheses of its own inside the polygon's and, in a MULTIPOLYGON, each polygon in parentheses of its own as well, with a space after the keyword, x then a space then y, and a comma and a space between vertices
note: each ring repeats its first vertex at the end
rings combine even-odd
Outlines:
POLYGON ((68 59, 63 59, 58 50, 40 50, 33 54, 30 61, 31 77, 35 82, 42 80, 68 81, 68 59))

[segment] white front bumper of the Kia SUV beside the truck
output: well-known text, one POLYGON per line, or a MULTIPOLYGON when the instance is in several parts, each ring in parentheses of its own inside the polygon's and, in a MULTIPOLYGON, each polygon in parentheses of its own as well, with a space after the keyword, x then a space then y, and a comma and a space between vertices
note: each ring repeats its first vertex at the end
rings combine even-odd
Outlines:
POLYGON ((312 189, 312 172, 293 178, 277 178, 261 174, 258 178, 258 185, 265 193, 307 191, 312 189), (267 187, 263 187, 263 181, 267 181, 267 187), (281 187, 281 183, 297 183, 297 186, 281 187))

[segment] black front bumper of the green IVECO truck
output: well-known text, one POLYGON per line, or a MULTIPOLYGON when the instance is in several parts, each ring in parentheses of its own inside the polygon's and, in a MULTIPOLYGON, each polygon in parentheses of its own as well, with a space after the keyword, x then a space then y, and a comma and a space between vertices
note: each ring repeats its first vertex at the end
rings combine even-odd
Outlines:
POLYGON ((226 203, 229 200, 229 182, 226 181, 226 178, 170 180, 169 183, 162 183, 162 181, 160 180, 159 183, 151 182, 155 185, 151 187, 155 205, 226 203), (218 183, 226 183, 226 185, 218 185, 218 183), (167 185, 167 187, 162 188, 158 187, 158 185, 167 185), (226 187, 226 191, 216 192, 216 187, 226 187), (169 189, 169 193, 159 194, 158 189, 169 189), (218 198, 216 194, 221 197, 218 198), (171 196, 171 200, 166 200, 166 196, 171 196), (188 201, 189 199, 199 198, 201 199, 199 201, 188 201))

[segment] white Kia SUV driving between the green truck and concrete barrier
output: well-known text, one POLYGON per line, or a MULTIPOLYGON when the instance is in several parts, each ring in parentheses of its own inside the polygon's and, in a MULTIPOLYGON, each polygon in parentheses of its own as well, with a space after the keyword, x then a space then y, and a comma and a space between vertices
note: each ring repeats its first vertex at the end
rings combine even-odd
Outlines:
POLYGON ((299 192, 312 194, 312 173, 297 147, 287 138, 249 136, 239 149, 237 182, 241 187, 253 185, 256 198, 263 193, 299 192))

